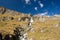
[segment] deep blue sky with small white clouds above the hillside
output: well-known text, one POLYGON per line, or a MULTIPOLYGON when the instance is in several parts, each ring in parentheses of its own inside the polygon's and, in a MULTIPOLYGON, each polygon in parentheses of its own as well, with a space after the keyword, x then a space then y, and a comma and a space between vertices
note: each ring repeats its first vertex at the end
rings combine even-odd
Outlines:
POLYGON ((0 6, 32 15, 60 14, 60 0, 0 0, 0 6))

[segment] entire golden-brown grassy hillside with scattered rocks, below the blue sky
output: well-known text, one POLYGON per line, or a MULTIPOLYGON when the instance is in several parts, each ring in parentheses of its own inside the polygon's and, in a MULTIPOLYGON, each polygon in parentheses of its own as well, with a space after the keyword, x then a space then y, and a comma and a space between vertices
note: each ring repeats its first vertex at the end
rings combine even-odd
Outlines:
POLYGON ((16 27, 24 28, 28 40, 60 40, 60 16, 31 16, 0 7, 0 33, 14 34, 16 27))

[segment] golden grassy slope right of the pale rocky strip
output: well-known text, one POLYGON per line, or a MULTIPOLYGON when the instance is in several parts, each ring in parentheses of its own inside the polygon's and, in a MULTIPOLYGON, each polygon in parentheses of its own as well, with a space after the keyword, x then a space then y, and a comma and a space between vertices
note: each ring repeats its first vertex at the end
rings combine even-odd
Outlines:
POLYGON ((32 40, 60 40, 60 18, 49 17, 42 21, 36 19, 32 23, 34 29, 33 32, 29 32, 29 38, 32 40))

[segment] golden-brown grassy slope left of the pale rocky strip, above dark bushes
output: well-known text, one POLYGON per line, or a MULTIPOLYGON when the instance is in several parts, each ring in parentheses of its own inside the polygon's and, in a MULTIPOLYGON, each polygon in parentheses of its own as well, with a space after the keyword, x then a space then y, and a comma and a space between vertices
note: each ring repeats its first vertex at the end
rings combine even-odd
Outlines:
POLYGON ((13 10, 7 10, 4 14, 0 13, 0 33, 13 34, 15 27, 25 26, 28 24, 28 20, 20 21, 20 18, 28 16, 27 14, 18 13, 13 10))

